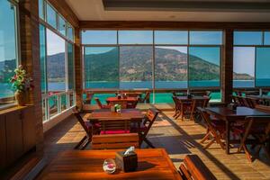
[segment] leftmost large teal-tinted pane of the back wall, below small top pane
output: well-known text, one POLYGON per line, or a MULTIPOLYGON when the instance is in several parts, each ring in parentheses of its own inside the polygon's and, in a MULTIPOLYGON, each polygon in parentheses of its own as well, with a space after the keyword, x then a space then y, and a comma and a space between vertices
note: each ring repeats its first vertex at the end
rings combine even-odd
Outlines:
POLYGON ((118 88, 118 48, 85 47, 85 88, 118 88))

